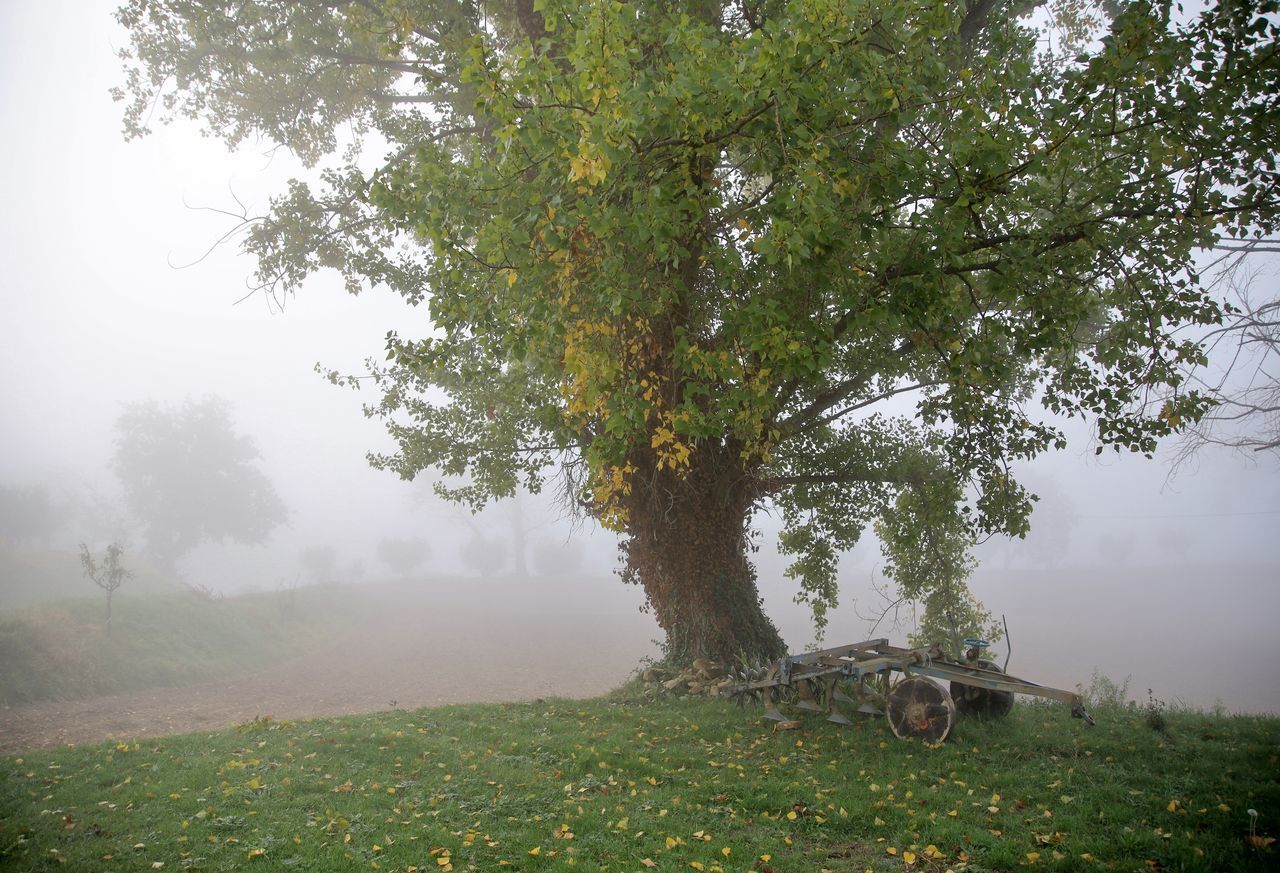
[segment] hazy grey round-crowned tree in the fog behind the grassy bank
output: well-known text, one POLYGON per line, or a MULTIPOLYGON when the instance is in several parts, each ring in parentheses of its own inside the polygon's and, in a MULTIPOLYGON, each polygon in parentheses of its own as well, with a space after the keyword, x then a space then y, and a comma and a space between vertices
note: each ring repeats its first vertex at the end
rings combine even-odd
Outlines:
POLYGON ((257 467, 253 440, 236 433, 227 401, 188 398, 125 407, 113 466, 143 527, 147 554, 165 570, 204 541, 266 540, 288 512, 257 467))

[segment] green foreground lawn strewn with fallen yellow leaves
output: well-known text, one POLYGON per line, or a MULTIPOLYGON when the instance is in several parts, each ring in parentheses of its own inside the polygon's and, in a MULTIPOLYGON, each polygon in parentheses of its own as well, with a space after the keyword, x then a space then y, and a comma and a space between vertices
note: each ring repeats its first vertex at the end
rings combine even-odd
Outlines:
POLYGON ((1019 703, 941 748, 718 700, 447 707, 0 760, 23 870, 1249 870, 1280 719, 1019 703))

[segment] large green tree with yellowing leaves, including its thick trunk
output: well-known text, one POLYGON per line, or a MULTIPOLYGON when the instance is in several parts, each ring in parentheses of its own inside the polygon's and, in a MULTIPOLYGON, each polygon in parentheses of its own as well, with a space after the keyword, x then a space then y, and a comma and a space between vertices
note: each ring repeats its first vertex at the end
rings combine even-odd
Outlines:
POLYGON ((673 658, 774 655, 760 508, 819 621, 874 525, 955 623, 1041 407, 1140 452, 1204 407, 1142 401, 1220 317, 1193 252, 1275 224, 1276 4, 1126 4, 1073 58, 1038 5, 133 0, 120 96, 324 163, 246 216, 264 288, 428 303, 376 465, 476 503, 559 469, 673 658))

